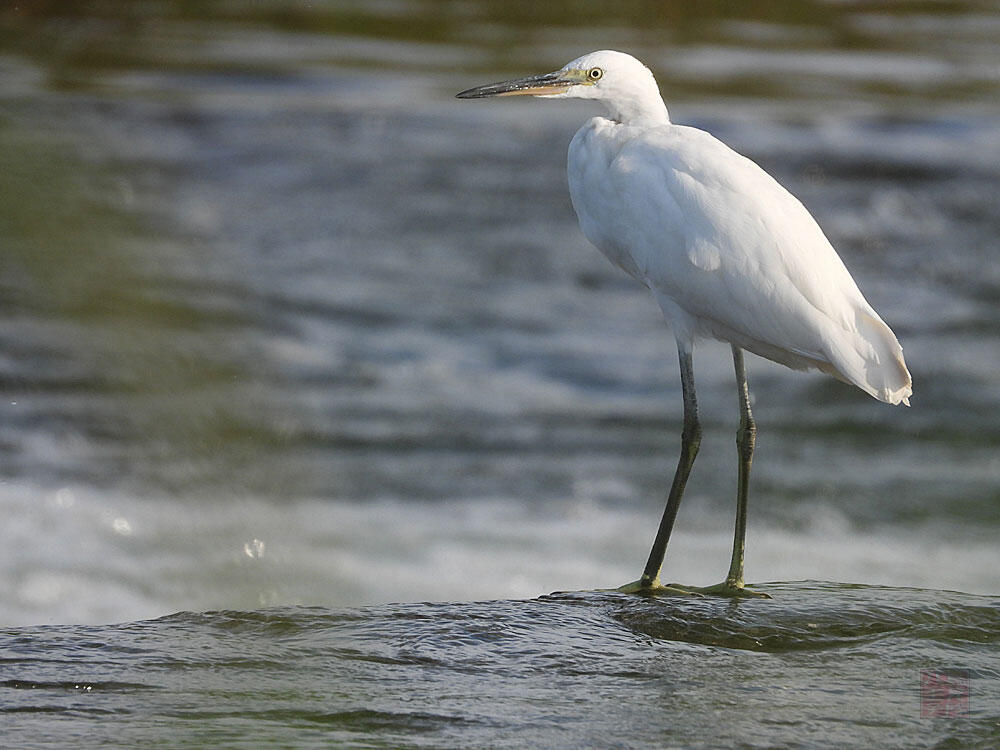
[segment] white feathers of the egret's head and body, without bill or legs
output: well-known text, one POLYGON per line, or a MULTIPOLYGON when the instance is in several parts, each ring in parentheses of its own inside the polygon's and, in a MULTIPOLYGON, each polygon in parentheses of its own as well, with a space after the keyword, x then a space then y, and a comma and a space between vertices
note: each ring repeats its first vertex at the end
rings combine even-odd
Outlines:
POLYGON ((587 239, 654 292, 682 345, 728 341, 907 402, 899 342, 794 196, 708 133, 671 123, 638 60, 605 51, 567 67, 603 68, 595 88, 621 71, 649 91, 635 98, 650 106, 633 105, 627 119, 613 112, 622 119, 580 128, 569 189, 587 239))

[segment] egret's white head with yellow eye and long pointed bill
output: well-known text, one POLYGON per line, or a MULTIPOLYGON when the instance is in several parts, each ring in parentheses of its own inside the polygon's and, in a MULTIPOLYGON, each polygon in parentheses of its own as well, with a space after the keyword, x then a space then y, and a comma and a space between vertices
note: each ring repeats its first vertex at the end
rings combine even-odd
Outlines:
POLYGON ((649 68, 631 55, 613 50, 591 52, 552 73, 477 86, 458 94, 458 98, 521 95, 597 99, 619 122, 668 121, 649 68))

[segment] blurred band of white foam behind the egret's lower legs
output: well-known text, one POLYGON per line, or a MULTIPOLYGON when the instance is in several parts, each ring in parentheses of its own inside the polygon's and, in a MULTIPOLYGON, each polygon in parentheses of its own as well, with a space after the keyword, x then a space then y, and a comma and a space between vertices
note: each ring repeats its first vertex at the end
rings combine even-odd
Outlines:
MULTIPOLYGON (((732 519, 690 500, 663 578, 714 583, 728 567, 732 519)), ((638 577, 658 521, 645 508, 586 498, 282 504, 10 484, 0 508, 4 625, 612 588, 638 577)), ((933 522, 859 530, 829 506, 808 515, 794 529, 751 520, 748 581, 996 593, 995 545, 971 530, 933 522)))

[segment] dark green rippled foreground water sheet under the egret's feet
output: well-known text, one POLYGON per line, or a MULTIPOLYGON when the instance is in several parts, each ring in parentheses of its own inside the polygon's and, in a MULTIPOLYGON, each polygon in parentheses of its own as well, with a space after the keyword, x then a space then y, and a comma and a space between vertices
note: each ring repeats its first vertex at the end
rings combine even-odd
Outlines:
POLYGON ((582 592, 5 630, 5 736, 61 747, 1000 743, 996 597, 762 588, 774 599, 582 592), (966 699, 922 693, 922 671, 963 666, 953 684, 966 699))

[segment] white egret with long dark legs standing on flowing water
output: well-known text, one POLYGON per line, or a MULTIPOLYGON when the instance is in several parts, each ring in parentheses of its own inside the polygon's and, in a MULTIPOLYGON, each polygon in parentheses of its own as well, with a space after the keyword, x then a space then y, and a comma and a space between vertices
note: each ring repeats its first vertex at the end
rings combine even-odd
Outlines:
POLYGON ((604 116, 584 123, 570 142, 570 199, 583 234, 650 290, 677 342, 680 457, 642 576, 619 590, 767 597, 744 582, 757 425, 743 352, 819 370, 879 401, 909 406, 913 384, 899 341, 802 203, 714 136, 673 123, 652 72, 636 58, 600 50, 551 73, 457 94, 521 95, 592 99, 603 106, 604 116), (701 443, 692 350, 703 339, 730 345, 736 374, 733 553, 722 583, 664 585, 667 543, 701 443))

